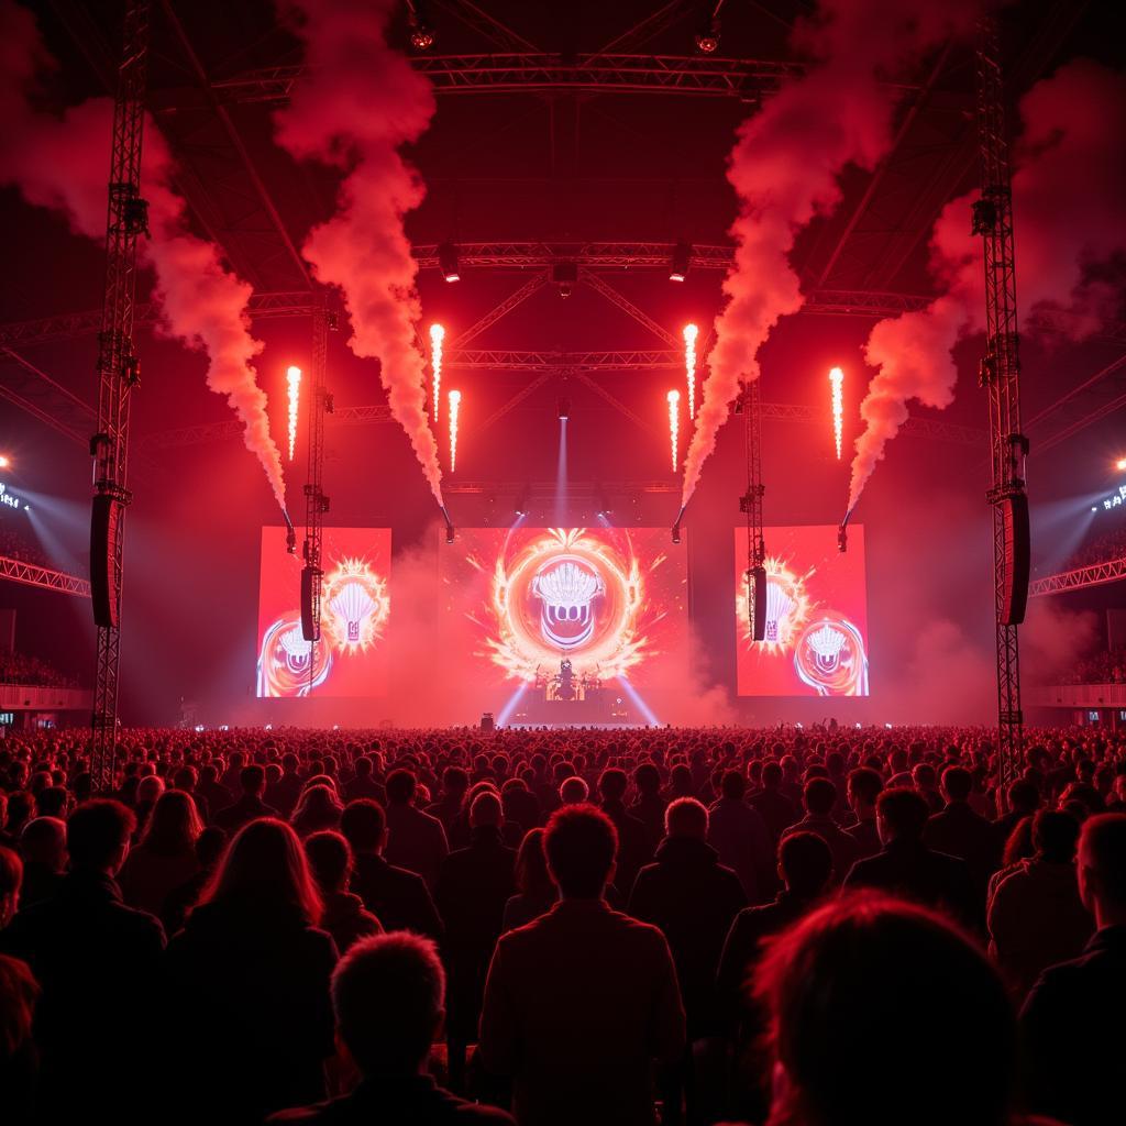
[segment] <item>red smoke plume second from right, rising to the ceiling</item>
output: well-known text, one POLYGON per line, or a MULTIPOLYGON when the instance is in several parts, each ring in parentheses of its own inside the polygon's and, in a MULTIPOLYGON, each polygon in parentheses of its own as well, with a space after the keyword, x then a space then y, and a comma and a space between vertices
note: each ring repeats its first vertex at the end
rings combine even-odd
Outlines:
POLYGON ((808 72, 739 129, 727 179, 739 197, 735 261, 723 284, 696 431, 685 461, 682 503, 715 448, 740 383, 759 377, 758 352, 778 320, 803 304, 789 263, 794 240, 840 200, 848 164, 874 168, 892 141, 893 96, 883 80, 931 46, 968 29, 976 0, 822 0, 794 46, 808 72))

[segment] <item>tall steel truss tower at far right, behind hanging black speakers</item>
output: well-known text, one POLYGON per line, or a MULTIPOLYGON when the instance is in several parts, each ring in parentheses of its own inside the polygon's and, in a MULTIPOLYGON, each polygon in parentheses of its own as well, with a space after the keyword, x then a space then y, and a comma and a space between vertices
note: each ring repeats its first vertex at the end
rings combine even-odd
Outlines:
MULTIPOLYGON (((1020 338, 1004 87, 998 27, 991 18, 982 21, 977 45, 977 131, 982 195, 974 204, 973 230, 982 235, 985 263, 986 345, 981 383, 989 396, 991 477, 988 499, 993 508, 998 766, 1000 784, 1004 787, 1019 774, 1024 753, 1017 625, 1007 620, 1011 616, 1007 609, 1007 591, 1015 581, 1021 580, 1015 579, 1009 570, 1015 561, 1007 557, 1006 548, 1012 547, 1012 539, 1006 535, 1006 516, 1011 513, 1013 503, 1027 503, 1024 465, 1028 439, 1020 427, 1020 338)), ((1015 568, 1017 573, 1019 570, 1015 568)))

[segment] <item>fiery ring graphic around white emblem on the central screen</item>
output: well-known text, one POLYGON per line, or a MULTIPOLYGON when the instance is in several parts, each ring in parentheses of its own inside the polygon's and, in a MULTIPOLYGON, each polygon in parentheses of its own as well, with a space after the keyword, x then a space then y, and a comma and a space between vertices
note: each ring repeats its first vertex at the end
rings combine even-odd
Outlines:
POLYGON ((511 557, 506 544, 492 569, 490 629, 495 633, 485 640, 506 679, 533 681, 564 654, 577 674, 605 679, 650 655, 640 629, 641 566, 628 533, 620 535, 624 552, 586 528, 551 528, 511 557))

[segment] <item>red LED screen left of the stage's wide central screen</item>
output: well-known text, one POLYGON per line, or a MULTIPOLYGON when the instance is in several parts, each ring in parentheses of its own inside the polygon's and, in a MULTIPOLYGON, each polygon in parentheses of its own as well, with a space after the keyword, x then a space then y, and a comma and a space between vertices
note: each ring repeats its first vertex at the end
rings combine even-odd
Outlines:
POLYGON ((262 528, 258 587, 259 696, 384 696, 391 614, 390 528, 325 528, 321 641, 301 629, 300 555, 285 528, 262 528))

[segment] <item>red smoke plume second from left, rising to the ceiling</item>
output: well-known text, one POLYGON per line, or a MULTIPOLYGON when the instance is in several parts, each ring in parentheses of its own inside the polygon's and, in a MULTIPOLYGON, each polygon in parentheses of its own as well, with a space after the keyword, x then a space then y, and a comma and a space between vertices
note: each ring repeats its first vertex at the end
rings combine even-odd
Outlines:
POLYGON ((400 145, 434 116, 430 82, 387 46, 392 0, 292 0, 306 43, 307 77, 278 114, 278 140, 294 157, 347 169, 337 214, 303 248, 316 277, 339 286, 351 318, 351 350, 379 360, 391 412, 406 431, 441 504, 438 446, 427 421, 426 359, 415 337, 418 266, 403 216, 422 202, 400 145))

